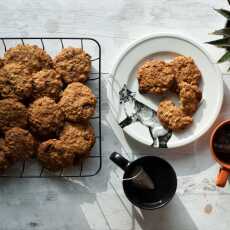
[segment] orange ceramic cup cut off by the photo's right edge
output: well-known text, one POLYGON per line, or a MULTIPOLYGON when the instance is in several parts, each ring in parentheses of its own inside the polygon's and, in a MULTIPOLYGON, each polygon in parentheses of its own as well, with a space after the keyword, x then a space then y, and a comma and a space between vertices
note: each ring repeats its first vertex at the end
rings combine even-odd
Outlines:
MULTIPOLYGON (((212 156, 213 158, 215 159, 215 161, 217 161, 220 165, 221 165, 221 168, 219 170, 219 173, 216 177, 216 185, 219 186, 219 187, 224 187, 227 180, 228 180, 228 176, 230 175, 230 164, 229 163, 226 163, 222 160, 220 160, 218 158, 218 155, 217 153, 215 152, 214 150, 214 147, 213 147, 213 144, 214 144, 214 137, 215 137, 215 134, 216 132, 220 129, 220 128, 223 128, 225 125, 227 124, 230 124, 230 119, 229 120, 225 120, 223 122, 221 122, 215 129, 214 131, 212 132, 212 135, 211 135, 211 139, 210 139, 210 149, 211 149, 211 152, 212 152, 212 156)), ((229 153, 230 154, 230 153, 229 153)))

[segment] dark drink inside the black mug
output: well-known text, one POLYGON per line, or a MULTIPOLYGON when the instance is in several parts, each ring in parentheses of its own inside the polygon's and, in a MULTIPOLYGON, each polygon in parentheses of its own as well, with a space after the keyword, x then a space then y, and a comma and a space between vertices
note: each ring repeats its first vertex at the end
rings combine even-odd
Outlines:
POLYGON ((143 167, 146 174, 152 179, 154 189, 139 187, 134 180, 124 180, 123 186, 126 195, 137 204, 146 206, 165 204, 175 193, 175 172, 169 170, 167 162, 159 158, 143 157, 129 168, 124 178, 130 178, 133 175, 134 167, 137 166, 143 167))

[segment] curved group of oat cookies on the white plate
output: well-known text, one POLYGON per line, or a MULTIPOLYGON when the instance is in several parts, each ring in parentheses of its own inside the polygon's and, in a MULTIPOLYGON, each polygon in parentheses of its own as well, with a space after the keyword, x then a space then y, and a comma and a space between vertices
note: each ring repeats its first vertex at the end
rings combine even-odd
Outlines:
POLYGON ((158 107, 157 115, 168 129, 185 129, 192 122, 202 98, 199 89, 201 72, 191 57, 177 56, 171 62, 146 61, 138 69, 139 92, 164 95, 167 91, 179 98, 179 106, 165 98, 158 107))

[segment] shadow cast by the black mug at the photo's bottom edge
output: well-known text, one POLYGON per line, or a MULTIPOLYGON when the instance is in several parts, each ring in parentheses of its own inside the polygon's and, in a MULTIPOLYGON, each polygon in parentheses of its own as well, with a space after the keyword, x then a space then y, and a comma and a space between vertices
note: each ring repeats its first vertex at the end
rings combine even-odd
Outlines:
MULTIPOLYGON (((167 206, 161 209, 137 210, 135 206, 132 206, 132 212, 133 217, 143 230, 198 229, 177 195, 167 206)), ((135 226, 132 229, 135 229, 135 226)))

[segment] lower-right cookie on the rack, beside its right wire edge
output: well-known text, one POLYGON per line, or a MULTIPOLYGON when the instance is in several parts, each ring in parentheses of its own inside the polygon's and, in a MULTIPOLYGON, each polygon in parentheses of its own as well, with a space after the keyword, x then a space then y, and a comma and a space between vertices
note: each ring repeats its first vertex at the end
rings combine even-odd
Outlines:
POLYGON ((60 134, 60 140, 73 150, 76 157, 87 156, 95 144, 94 130, 89 123, 68 123, 60 134))

